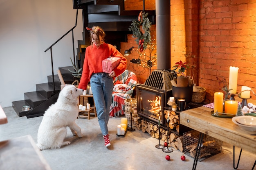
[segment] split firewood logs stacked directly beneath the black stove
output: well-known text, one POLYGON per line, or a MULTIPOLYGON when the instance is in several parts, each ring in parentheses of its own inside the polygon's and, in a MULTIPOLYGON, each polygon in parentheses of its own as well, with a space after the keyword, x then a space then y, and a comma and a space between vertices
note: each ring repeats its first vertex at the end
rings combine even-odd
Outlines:
MULTIPOLYGON (((174 117, 173 114, 172 116, 174 117)), ((171 114, 170 114, 170 117, 171 117, 171 114)), ((170 131, 169 131, 169 134, 167 134, 167 130, 163 128, 160 129, 160 134, 159 134, 159 129, 157 124, 153 124, 143 119, 137 120, 136 127, 138 130, 141 130, 143 133, 150 134, 151 137, 154 137, 156 139, 159 139, 160 137, 160 139, 164 142, 167 142, 167 138, 168 138, 168 146, 171 146, 176 150, 179 149, 181 152, 183 152, 183 135, 177 135, 175 133, 171 133, 170 131)))

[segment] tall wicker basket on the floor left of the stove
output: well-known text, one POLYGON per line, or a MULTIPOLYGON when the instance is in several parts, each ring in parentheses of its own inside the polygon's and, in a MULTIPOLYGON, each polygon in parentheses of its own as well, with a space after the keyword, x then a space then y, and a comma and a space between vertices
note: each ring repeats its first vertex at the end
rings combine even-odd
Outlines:
POLYGON ((136 126, 137 120, 140 119, 140 117, 137 114, 137 99, 136 98, 131 98, 130 95, 126 96, 126 100, 124 100, 124 113, 125 113, 125 117, 128 120, 128 122, 127 122, 128 126, 131 125, 131 120, 132 120, 132 126, 136 126), (130 98, 128 98, 128 97, 130 97, 130 98), (131 102, 131 100, 132 100, 132 102, 131 102), (131 108, 132 108, 132 118, 130 116, 131 108))

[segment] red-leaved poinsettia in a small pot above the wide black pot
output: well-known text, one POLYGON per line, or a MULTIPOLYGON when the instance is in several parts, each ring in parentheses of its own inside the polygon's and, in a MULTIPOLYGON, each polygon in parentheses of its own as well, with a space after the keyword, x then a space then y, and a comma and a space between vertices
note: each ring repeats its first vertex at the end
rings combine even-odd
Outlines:
POLYGON ((180 60, 179 62, 175 63, 173 68, 175 68, 173 71, 178 69, 177 72, 181 74, 180 76, 177 76, 177 87, 188 87, 189 77, 185 74, 186 69, 189 68, 188 63, 180 60))

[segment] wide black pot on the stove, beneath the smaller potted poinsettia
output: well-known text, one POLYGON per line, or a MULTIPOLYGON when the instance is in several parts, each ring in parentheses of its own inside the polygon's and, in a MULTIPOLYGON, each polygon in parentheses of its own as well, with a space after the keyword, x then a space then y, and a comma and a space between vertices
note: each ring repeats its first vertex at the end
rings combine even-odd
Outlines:
POLYGON ((173 86, 173 97, 178 100, 179 98, 186 99, 186 103, 191 102, 193 95, 193 86, 191 87, 175 87, 173 86))

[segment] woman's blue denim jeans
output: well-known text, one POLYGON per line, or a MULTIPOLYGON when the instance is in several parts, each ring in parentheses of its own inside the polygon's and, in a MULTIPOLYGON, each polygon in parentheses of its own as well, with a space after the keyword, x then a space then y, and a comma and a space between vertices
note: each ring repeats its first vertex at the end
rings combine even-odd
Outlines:
POLYGON ((113 78, 108 73, 94 73, 90 78, 94 104, 102 135, 108 134, 109 109, 113 92, 113 78))

